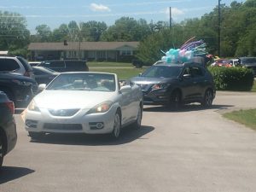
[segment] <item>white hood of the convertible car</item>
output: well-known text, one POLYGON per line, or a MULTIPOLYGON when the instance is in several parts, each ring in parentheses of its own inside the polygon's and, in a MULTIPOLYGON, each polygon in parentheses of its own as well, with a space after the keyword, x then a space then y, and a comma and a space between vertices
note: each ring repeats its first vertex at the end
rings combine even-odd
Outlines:
POLYGON ((115 92, 90 90, 44 90, 34 97, 38 108, 93 108, 112 101, 115 92), (110 100, 110 98, 112 98, 110 100))

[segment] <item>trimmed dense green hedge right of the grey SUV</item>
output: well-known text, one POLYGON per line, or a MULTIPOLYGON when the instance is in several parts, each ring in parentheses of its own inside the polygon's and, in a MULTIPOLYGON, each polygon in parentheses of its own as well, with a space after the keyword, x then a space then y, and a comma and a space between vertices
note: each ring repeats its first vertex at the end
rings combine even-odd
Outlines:
POLYGON ((253 71, 245 67, 208 67, 216 90, 251 90, 253 71))

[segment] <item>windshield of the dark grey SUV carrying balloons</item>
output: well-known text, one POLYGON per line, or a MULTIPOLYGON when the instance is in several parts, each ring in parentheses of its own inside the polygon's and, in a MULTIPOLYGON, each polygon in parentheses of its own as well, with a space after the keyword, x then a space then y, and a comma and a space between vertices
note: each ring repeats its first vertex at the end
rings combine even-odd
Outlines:
POLYGON ((146 70, 142 77, 148 78, 177 78, 181 73, 182 67, 179 66, 152 66, 146 70))

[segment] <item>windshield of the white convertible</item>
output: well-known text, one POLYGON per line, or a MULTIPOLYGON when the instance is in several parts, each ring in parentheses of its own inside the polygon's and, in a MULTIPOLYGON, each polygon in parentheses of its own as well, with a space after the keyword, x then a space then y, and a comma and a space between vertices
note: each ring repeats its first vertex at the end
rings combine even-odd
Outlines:
POLYGON ((108 73, 61 73, 46 90, 96 90, 114 91, 113 74, 108 73))

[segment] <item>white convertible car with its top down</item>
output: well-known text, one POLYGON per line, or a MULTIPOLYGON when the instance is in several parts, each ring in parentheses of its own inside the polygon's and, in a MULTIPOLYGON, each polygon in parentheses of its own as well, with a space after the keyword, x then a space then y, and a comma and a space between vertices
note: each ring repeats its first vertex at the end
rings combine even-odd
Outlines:
POLYGON ((23 118, 32 138, 45 133, 110 133, 125 125, 139 128, 143 93, 137 84, 119 84, 114 73, 61 73, 39 90, 23 118))

